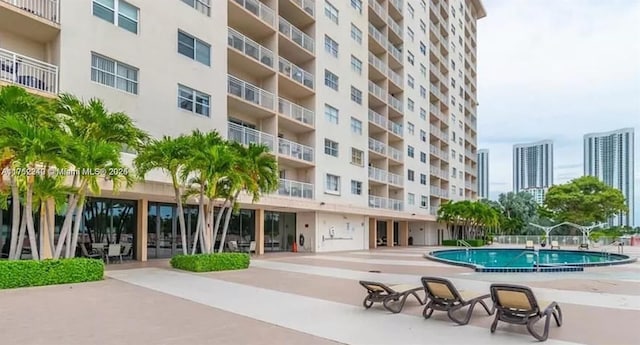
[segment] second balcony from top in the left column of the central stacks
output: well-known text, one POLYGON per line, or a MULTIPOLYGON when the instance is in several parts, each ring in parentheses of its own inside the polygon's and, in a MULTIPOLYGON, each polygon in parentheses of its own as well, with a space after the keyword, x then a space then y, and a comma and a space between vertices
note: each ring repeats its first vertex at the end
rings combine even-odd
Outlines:
POLYGON ((227 44, 233 48, 229 52, 229 63, 261 78, 273 73, 274 54, 271 50, 232 28, 227 30, 227 44))

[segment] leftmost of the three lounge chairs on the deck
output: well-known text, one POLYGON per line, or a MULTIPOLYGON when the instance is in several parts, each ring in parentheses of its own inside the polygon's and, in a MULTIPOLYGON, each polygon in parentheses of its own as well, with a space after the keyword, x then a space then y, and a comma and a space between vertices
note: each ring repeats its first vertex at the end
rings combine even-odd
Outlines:
POLYGON ((374 303, 382 303, 385 309, 397 314, 402 311, 407 297, 415 297, 420 305, 426 303, 426 297, 424 300, 418 296, 418 291, 423 290, 421 286, 415 285, 391 285, 387 286, 378 282, 360 281, 360 285, 367 289, 367 296, 362 301, 362 305, 369 309, 374 303))

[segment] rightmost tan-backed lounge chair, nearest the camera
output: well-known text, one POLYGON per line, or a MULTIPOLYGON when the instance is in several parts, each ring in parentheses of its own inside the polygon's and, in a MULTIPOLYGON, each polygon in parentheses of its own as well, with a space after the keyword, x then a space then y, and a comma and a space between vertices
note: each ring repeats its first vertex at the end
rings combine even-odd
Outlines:
POLYGON ((562 326, 562 311, 558 303, 543 301, 538 303, 530 288, 510 284, 492 284, 490 290, 491 299, 496 308, 496 318, 491 324, 491 333, 496 331, 498 321, 504 321, 516 325, 527 325, 527 330, 534 338, 545 341, 549 336, 552 315, 558 327, 562 326), (542 309, 540 305, 546 305, 546 307, 542 309), (541 334, 535 330, 534 326, 543 318, 545 322, 541 334))

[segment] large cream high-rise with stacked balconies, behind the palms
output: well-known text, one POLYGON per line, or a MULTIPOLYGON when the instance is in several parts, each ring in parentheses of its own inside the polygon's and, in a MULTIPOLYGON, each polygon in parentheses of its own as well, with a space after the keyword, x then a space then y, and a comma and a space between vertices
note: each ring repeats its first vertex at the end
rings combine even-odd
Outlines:
MULTIPOLYGON (((227 235, 258 254, 437 244, 438 206, 477 198, 484 16, 480 0, 0 0, 0 84, 102 99, 155 137, 267 145, 280 188, 243 198, 227 235)), ((169 182, 86 209, 133 219, 118 239, 138 259, 170 257, 169 182)))

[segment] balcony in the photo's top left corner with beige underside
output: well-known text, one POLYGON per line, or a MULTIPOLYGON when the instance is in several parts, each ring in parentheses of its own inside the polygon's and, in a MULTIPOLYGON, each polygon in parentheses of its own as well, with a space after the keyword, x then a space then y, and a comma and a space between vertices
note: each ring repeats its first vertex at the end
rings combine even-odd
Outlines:
POLYGON ((58 0, 0 0, 0 31, 39 43, 53 41, 60 32, 58 0))

